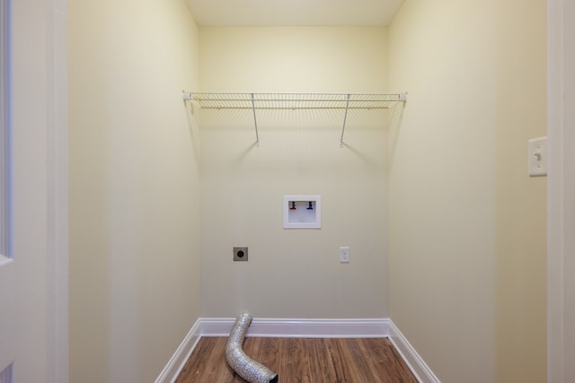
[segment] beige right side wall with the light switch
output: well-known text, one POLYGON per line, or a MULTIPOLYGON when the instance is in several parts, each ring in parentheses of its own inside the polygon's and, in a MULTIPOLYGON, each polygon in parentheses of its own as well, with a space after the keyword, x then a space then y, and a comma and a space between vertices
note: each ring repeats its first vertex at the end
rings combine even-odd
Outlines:
POLYGON ((545 381, 545 2, 409 1, 390 178, 391 318, 449 382, 545 381))

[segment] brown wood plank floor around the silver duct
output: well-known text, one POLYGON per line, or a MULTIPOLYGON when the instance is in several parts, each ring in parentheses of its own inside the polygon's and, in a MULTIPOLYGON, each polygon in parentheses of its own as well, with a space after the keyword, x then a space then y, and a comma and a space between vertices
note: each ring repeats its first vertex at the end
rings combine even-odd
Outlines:
MULTIPOLYGON (((204 337, 176 383, 244 383, 226 362, 226 337, 204 337)), ((386 338, 245 338, 243 351, 279 382, 417 383, 386 338)))

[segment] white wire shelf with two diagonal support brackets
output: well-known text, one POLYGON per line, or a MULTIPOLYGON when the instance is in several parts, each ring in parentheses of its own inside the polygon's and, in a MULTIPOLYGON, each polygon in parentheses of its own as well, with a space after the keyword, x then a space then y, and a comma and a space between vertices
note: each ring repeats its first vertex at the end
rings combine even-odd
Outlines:
POLYGON ((407 93, 208 93, 183 91, 183 100, 194 101, 200 109, 251 109, 259 145, 256 110, 341 109, 344 110, 340 146, 349 109, 391 109, 407 100, 407 93))

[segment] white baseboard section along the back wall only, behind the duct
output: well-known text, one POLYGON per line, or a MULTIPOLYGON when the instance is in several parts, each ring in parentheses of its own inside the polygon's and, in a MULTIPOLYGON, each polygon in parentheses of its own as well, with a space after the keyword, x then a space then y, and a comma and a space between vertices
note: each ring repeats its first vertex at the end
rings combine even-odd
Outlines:
MULTIPOLYGON (((203 336, 228 336, 235 318, 202 318, 203 336)), ((371 338, 389 335, 389 319, 254 318, 246 336, 371 338)))

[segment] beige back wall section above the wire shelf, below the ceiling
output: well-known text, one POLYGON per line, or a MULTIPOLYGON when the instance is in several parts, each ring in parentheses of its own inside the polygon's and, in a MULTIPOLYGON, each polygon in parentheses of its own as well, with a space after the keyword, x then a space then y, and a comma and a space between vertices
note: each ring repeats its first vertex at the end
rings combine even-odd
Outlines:
POLYGON ((385 28, 200 29, 202 91, 387 91, 385 28))

